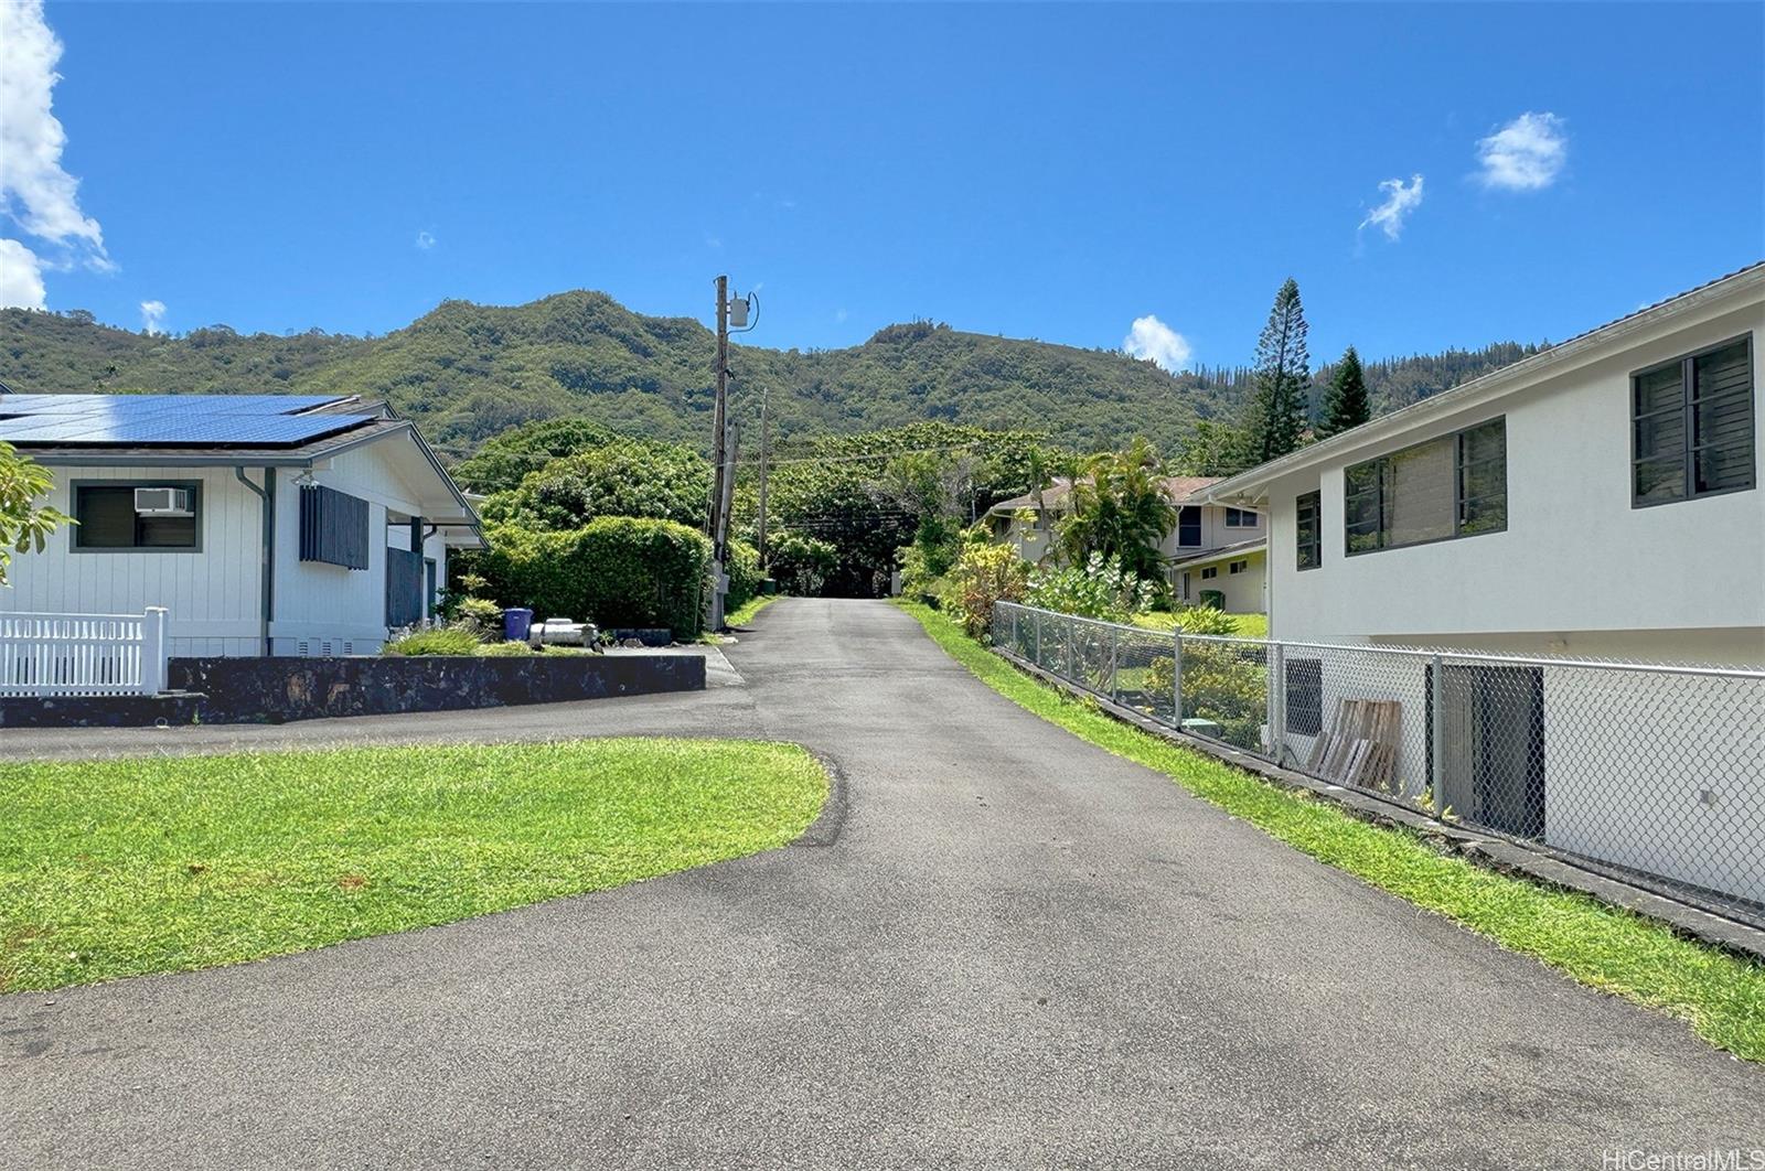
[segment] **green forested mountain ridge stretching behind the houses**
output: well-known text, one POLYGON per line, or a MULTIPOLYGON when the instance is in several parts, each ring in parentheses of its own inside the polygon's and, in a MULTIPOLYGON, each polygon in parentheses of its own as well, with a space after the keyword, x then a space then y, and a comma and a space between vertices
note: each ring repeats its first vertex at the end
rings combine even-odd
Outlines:
MULTIPOLYGON (((385 337, 235 333, 161 337, 90 314, 0 310, 0 379, 19 392, 289 392, 387 399, 464 457, 517 423, 572 416, 706 446, 715 337, 690 317, 635 314, 604 293, 528 305, 445 302, 385 337)), ((1435 393, 1528 347, 1368 362, 1378 409, 1435 393)), ((1198 418, 1230 420, 1241 370, 1165 374, 1103 349, 909 323, 847 349, 732 346, 734 414, 750 429, 768 393, 780 441, 916 421, 1031 427, 1098 450, 1147 436, 1174 451, 1198 418)), ((1320 372, 1318 381, 1327 376, 1320 372)))

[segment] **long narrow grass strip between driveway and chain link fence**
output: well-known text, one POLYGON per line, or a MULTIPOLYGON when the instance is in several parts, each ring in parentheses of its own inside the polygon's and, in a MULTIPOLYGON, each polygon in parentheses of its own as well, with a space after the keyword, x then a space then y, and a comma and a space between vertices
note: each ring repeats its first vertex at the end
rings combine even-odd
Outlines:
MULTIPOLYGON (((1691 1023, 1700 1037, 1765 1062, 1765 966, 1675 935, 1594 898, 1553 891, 1437 854, 1401 829, 1359 822, 1306 794, 1276 788, 1204 753, 1140 732, 1094 704, 1066 698, 967 638, 948 615, 902 603, 983 682, 1075 735, 1165 772, 1191 794, 1338 869, 1447 915, 1502 947, 1583 984, 1691 1023)), ((1426 995, 1426 989, 1410 989, 1426 995)))

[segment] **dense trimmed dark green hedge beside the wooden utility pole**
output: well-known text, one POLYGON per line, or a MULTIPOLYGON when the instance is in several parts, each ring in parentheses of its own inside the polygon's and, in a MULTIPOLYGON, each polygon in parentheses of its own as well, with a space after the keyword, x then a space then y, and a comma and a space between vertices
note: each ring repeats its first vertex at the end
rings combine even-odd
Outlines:
POLYGON ((461 570, 489 580, 503 605, 530 607, 535 621, 667 626, 683 642, 704 628, 711 543, 683 524, 602 517, 563 533, 492 526, 485 538, 491 547, 461 570))

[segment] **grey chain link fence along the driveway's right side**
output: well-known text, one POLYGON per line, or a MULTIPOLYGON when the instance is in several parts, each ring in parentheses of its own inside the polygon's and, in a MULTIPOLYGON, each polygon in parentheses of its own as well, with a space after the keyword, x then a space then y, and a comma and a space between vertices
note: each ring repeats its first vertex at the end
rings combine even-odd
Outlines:
POLYGON ((1186 635, 1015 603, 1100 698, 1765 928, 1765 672, 1186 635))

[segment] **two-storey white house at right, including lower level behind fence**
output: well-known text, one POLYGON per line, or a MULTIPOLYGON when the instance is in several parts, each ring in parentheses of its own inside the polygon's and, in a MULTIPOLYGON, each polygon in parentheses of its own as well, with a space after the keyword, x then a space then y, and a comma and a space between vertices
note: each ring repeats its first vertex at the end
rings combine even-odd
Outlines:
MULTIPOLYGON (((1754 679, 1587 660, 1765 665, 1765 265, 1647 307, 1248 473, 1271 637, 1461 647, 1442 660, 1444 801, 1495 829, 1765 901, 1754 679), (1726 836, 1724 836, 1726 834, 1726 836)), ((1435 735, 1426 656, 1287 645, 1280 748, 1341 700, 1398 712, 1398 788, 1435 735)))

